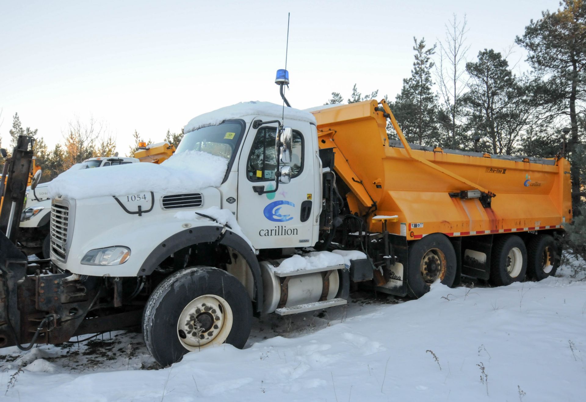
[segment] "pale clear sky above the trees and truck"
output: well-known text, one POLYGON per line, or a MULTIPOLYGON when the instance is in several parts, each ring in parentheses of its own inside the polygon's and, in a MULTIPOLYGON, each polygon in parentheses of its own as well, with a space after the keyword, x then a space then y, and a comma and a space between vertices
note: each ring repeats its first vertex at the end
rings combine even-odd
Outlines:
MULTIPOLYGON (((162 141, 196 115, 240 101, 281 103, 287 69, 293 107, 345 99, 357 83, 394 99, 413 63, 413 36, 444 38, 468 19, 468 59, 503 51, 557 0, 6 1, 0 0, 0 136, 15 112, 50 147, 79 116, 104 122, 121 155, 138 130, 162 141)), ((509 61, 524 59, 516 47, 509 61)), ((521 67, 524 63, 519 64, 521 67)))

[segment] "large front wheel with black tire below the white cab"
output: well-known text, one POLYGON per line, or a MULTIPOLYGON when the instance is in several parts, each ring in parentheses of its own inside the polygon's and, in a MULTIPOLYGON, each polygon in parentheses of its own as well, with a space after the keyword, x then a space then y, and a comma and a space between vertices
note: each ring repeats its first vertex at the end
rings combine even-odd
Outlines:
POLYGON ((241 349, 251 325, 246 288, 226 271, 193 267, 172 274, 152 292, 142 333, 148 351, 166 367, 187 352, 222 343, 241 349))

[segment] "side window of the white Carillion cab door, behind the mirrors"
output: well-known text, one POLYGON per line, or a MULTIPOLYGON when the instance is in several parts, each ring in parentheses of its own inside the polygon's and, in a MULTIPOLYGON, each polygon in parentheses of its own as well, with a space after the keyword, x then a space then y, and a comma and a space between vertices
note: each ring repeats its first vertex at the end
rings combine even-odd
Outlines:
MULTIPOLYGON (((275 138, 277 128, 262 127, 254 137, 253 146, 248 156, 246 175, 252 182, 263 182, 275 179, 277 159, 275 158, 275 138)), ((293 131, 293 147, 291 163, 280 163, 281 166, 291 166, 291 177, 299 176, 303 170, 303 136, 299 131, 293 131)))

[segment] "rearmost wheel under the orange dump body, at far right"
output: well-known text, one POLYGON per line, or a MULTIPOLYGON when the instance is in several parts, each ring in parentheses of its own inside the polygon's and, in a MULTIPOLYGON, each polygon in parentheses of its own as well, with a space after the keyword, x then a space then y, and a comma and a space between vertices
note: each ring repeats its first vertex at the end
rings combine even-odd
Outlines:
POLYGON ((527 277, 541 281, 556 274, 560 266, 556 240, 549 234, 538 234, 527 244, 527 277))

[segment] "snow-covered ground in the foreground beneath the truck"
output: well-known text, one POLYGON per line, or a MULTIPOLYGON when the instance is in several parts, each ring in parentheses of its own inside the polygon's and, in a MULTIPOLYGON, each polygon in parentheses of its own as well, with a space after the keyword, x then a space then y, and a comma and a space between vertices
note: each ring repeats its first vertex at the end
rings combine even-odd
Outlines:
POLYGON ((0 349, 0 391, 19 401, 582 401, 586 281, 570 271, 501 288, 434 285, 407 302, 359 293, 327 313, 255 319, 246 349, 192 352, 167 369, 139 333, 0 349))

